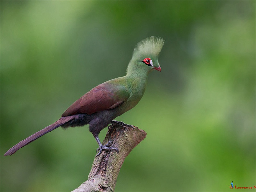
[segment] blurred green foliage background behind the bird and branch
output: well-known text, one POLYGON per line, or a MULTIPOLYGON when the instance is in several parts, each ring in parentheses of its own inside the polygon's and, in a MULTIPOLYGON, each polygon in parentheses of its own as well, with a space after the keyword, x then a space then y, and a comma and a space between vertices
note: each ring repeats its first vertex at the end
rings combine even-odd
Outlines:
POLYGON ((1 1, 1 191, 71 191, 87 180, 97 148, 88 126, 3 155, 94 86, 124 76, 149 36, 165 40, 162 72, 117 118, 147 137, 116 191, 256 184, 255 1, 1 1))

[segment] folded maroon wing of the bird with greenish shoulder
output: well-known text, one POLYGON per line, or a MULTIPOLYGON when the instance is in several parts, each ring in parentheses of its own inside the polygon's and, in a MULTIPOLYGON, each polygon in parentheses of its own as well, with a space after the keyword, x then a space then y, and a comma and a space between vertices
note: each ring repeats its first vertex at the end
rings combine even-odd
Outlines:
POLYGON ((99 111, 113 109, 129 98, 124 87, 103 83, 94 87, 80 99, 75 101, 63 114, 64 116, 86 113, 88 115, 99 111))

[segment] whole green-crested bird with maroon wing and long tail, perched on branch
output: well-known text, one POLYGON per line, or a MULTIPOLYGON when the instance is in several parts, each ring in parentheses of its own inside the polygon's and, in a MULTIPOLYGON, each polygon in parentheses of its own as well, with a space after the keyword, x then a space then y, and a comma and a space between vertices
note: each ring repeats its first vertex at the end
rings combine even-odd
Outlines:
POLYGON ((160 37, 151 36, 141 40, 134 48, 125 76, 94 87, 76 100, 59 120, 20 141, 4 156, 12 155, 20 148, 60 126, 66 129, 86 124, 89 124, 89 131, 99 145, 97 149, 99 152, 96 156, 99 156, 103 150, 115 150, 118 153, 118 148, 111 147, 111 141, 102 145, 99 133, 109 124, 132 126, 114 119, 132 109, 140 101, 145 92, 148 73, 153 70, 161 71, 158 56, 163 45, 164 40, 160 37))

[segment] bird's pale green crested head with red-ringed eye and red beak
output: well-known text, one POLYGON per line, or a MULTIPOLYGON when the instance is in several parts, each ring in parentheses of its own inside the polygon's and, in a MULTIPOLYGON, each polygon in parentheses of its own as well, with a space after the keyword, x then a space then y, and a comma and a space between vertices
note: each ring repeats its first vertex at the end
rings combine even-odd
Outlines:
POLYGON ((149 73, 152 70, 161 71, 158 55, 164 45, 164 40, 151 36, 140 41, 133 52, 127 68, 127 74, 136 72, 149 73))

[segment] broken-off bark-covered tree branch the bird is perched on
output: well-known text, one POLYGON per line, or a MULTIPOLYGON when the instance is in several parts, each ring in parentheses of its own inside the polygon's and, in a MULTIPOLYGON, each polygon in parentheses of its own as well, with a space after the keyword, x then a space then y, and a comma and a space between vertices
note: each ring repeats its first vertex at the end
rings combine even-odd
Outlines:
POLYGON ((145 137, 146 132, 138 127, 123 128, 117 124, 110 125, 102 143, 105 145, 108 141, 112 141, 111 147, 118 148, 119 153, 103 150, 95 157, 88 180, 72 192, 114 191, 124 159, 145 137))

